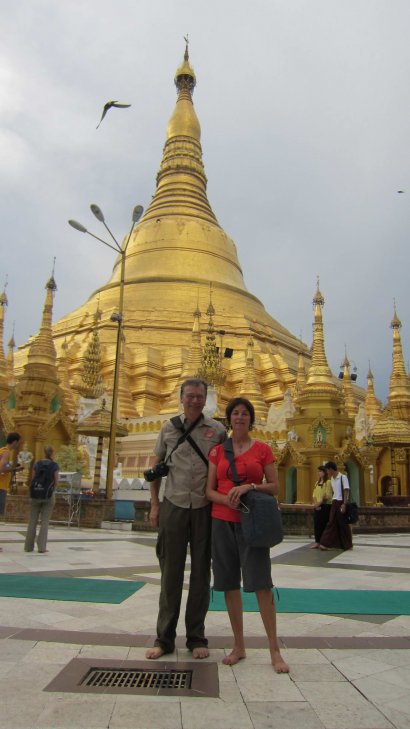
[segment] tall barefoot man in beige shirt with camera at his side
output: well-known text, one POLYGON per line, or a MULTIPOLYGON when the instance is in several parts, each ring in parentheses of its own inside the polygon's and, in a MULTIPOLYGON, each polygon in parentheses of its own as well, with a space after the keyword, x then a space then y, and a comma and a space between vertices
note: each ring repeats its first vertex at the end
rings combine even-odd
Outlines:
POLYGON ((146 652, 146 658, 160 658, 174 651, 188 544, 191 574, 185 611, 186 645, 194 658, 207 658, 209 655, 205 616, 209 605, 211 573, 211 512, 205 497, 206 461, 211 448, 225 440, 226 431, 221 423, 203 415, 206 395, 207 384, 203 380, 189 379, 183 382, 183 414, 179 421, 184 430, 193 426, 189 437, 199 448, 202 457, 188 440, 184 440, 173 451, 183 431, 175 427, 172 421, 163 425, 155 445, 154 468, 173 452, 167 461, 169 472, 161 509, 161 477, 151 482, 150 522, 152 526, 159 525, 157 557, 161 567, 161 594, 157 639, 154 647, 146 652))

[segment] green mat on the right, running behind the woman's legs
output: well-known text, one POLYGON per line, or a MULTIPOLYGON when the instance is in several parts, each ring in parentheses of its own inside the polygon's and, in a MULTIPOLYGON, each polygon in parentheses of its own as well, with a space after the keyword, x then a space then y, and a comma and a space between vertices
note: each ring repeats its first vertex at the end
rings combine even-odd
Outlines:
MULTIPOLYGON (((410 615, 410 592, 400 590, 274 590, 278 613, 326 615, 410 615), (276 593, 279 593, 279 599, 276 593)), ((258 611, 254 593, 242 593, 244 612, 258 611)), ((223 592, 213 591, 210 610, 226 610, 223 592)))

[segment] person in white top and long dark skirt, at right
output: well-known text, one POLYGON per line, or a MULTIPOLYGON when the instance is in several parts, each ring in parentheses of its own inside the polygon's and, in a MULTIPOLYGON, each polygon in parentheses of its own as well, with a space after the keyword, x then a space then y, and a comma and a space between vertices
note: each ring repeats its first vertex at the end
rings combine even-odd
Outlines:
POLYGON ((320 540, 320 549, 352 549, 352 531, 346 521, 346 504, 349 501, 350 486, 347 476, 340 473, 334 461, 325 463, 327 475, 333 489, 333 501, 329 521, 320 540))

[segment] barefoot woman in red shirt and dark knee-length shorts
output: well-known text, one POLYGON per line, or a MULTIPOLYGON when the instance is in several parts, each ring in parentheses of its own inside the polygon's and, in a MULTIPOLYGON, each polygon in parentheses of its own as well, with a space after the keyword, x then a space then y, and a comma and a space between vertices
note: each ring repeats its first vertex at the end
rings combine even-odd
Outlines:
POLYGON ((272 665, 277 673, 288 673, 289 667, 280 654, 276 635, 269 549, 246 546, 239 511, 241 497, 252 489, 272 496, 278 493, 275 457, 266 443, 252 440, 249 436, 255 421, 255 410, 249 400, 242 397, 231 400, 226 407, 226 417, 232 428, 232 446, 240 485, 235 486, 233 483, 232 469, 221 444, 209 453, 206 488, 207 498, 212 502, 214 588, 225 593, 234 637, 233 649, 223 659, 223 663, 233 666, 246 658, 240 591, 242 572, 244 591, 256 593, 268 636, 272 665))

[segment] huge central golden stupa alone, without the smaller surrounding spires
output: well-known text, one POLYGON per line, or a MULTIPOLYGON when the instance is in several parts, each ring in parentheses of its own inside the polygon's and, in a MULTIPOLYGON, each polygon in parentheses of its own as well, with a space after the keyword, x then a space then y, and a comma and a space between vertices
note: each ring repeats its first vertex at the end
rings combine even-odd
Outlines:
MULTIPOLYGON (((266 412, 295 381, 301 350, 307 361, 309 358, 300 340, 247 290, 236 246, 209 204, 201 130, 192 102, 195 83, 186 49, 175 76, 178 97, 168 122, 156 191, 126 255, 119 414, 127 418, 175 410, 173 393, 181 377, 198 369, 191 352, 193 330, 199 311, 205 332, 211 297, 216 344, 233 350, 232 358, 221 364, 225 376, 220 402, 246 389, 250 337, 266 412), (220 342, 221 330, 225 334, 220 342), (126 393, 131 395, 127 403, 126 393)), ((112 388, 117 326, 110 317, 118 309, 119 279, 120 259, 108 283, 53 326, 59 363, 64 359, 68 378, 77 382, 79 391, 80 372, 95 326, 104 385, 108 392, 112 388), (100 320, 96 324, 97 309, 100 320)), ((24 348, 17 354, 17 371, 22 371, 26 356, 24 348)))

